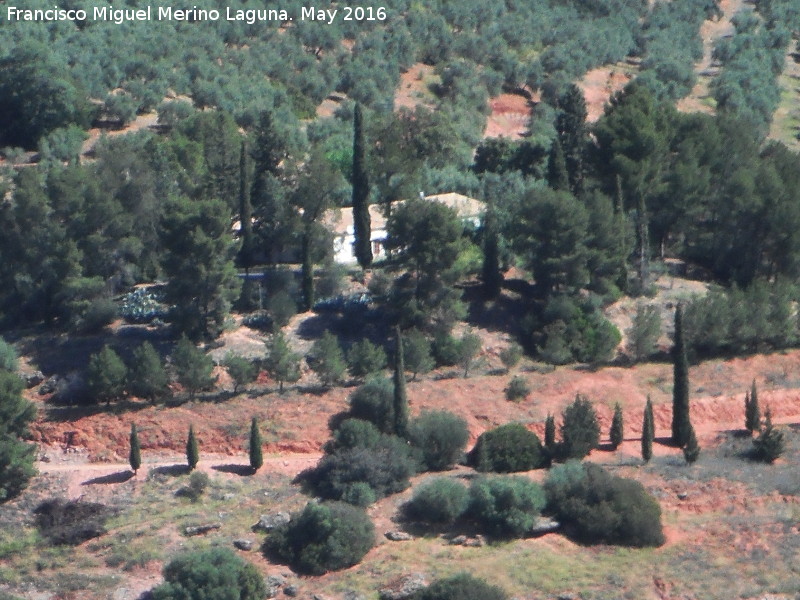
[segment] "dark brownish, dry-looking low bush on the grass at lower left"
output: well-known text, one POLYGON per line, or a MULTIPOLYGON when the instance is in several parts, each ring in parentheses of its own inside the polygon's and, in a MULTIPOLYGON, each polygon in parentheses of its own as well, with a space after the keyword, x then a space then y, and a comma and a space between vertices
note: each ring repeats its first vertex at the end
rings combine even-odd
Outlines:
POLYGON ((114 511, 105 504, 82 500, 46 500, 34 509, 36 528, 51 544, 77 546, 106 533, 114 511))

